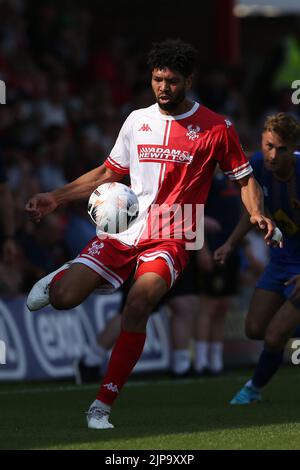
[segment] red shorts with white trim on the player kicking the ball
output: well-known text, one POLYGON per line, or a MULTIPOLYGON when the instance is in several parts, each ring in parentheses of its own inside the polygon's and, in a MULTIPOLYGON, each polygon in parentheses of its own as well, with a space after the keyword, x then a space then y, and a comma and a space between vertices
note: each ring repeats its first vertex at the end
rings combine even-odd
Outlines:
MULTIPOLYGON (((98 273, 107 281, 107 284, 101 286, 100 290, 110 293, 121 287, 130 274, 142 263, 156 259, 166 263, 169 272, 163 277, 171 287, 186 266, 188 258, 188 252, 173 240, 153 240, 149 243, 143 242, 142 246, 127 246, 114 238, 100 240, 95 237, 74 259, 73 263, 85 264, 98 273)), ((153 266, 153 263, 151 264, 153 266)), ((149 269, 149 271, 153 270, 149 269)), ((143 269, 144 272, 145 269, 143 269)))

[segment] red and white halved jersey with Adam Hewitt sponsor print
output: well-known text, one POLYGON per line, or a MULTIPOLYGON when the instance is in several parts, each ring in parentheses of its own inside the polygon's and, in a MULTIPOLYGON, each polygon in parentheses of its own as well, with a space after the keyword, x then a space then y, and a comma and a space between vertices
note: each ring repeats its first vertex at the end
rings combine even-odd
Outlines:
MULTIPOLYGON (((252 172, 233 125, 223 116, 197 102, 178 116, 162 114, 157 104, 133 111, 105 165, 117 173, 130 174, 140 212, 128 230, 113 237, 128 245, 153 238, 149 232, 153 204, 179 210, 184 205, 205 204, 217 163, 231 180, 252 172)), ((173 235, 175 219, 168 222, 173 235)), ((160 225, 157 230, 162 235, 160 225)), ((161 236, 165 238, 170 237, 161 236)))

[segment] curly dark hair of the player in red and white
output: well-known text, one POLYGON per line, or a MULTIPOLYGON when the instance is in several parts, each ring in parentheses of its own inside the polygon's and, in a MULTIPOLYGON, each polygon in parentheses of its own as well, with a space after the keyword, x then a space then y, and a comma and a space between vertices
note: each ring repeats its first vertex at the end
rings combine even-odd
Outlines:
POLYGON ((148 66, 153 69, 169 68, 190 76, 196 68, 198 52, 191 44, 181 39, 166 39, 152 44, 148 54, 148 66))

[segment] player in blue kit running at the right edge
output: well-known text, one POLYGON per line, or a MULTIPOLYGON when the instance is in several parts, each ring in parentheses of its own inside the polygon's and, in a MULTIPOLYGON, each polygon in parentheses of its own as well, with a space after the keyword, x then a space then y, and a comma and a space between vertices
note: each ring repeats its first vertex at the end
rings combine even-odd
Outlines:
MULTIPOLYGON (((262 151, 251 158, 256 179, 264 192, 266 210, 283 232, 283 248, 270 247, 270 262, 258 280, 246 318, 246 335, 264 340, 254 375, 233 397, 231 404, 261 400, 261 390, 279 369, 287 341, 300 324, 300 123, 278 113, 266 119, 262 151)), ((214 257, 224 263, 251 229, 244 214, 214 257)))

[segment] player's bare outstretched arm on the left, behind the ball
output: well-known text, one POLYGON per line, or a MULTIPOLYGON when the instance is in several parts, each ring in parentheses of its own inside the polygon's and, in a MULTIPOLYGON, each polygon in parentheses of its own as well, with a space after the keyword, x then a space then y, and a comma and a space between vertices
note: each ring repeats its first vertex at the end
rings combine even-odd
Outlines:
POLYGON ((62 188, 49 193, 36 194, 26 204, 25 211, 29 214, 31 220, 39 222, 58 206, 71 201, 86 199, 100 184, 121 181, 122 178, 122 174, 101 165, 62 188))

